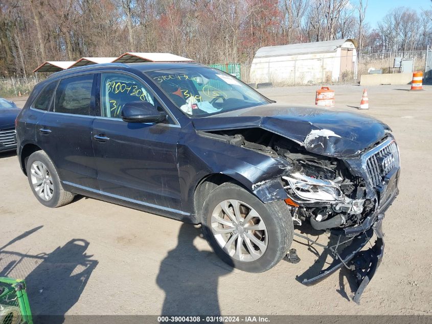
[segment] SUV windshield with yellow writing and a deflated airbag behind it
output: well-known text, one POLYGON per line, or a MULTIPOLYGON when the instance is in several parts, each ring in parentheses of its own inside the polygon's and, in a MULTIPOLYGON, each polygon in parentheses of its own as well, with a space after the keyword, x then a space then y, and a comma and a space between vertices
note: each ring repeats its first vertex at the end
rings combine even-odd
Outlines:
POLYGON ((269 101, 231 75, 210 68, 147 73, 186 115, 207 117, 269 101))

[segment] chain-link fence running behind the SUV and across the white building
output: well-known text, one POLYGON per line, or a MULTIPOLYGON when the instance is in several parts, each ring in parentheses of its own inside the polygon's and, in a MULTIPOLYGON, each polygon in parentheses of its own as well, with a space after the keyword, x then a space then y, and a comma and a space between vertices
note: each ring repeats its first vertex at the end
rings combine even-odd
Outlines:
MULTIPOLYGON (((427 51, 368 53, 357 56, 315 54, 305 59, 241 64, 222 63, 213 64, 212 67, 228 72, 256 88, 358 84, 361 75, 374 73, 374 71, 401 73, 401 67, 395 67, 395 59, 414 59, 413 70, 424 72, 425 79, 432 78, 432 50, 430 49, 427 51)), ((40 79, 38 80, 36 76, 0 78, 0 97, 28 96, 38 81, 40 79)))

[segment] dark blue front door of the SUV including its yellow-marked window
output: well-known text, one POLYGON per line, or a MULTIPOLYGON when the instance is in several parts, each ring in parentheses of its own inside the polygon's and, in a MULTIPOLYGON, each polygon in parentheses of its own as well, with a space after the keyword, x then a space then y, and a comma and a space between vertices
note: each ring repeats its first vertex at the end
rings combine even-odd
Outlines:
POLYGON ((100 190, 111 197, 150 207, 181 210, 177 169, 180 127, 166 123, 128 123, 122 107, 147 101, 163 109, 138 79, 121 73, 101 74, 101 117, 93 123, 93 146, 100 190))

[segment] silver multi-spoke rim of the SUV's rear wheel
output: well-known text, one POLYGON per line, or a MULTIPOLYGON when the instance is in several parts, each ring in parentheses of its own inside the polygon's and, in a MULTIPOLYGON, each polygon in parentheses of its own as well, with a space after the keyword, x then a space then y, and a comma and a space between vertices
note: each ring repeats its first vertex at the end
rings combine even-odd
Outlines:
POLYGON ((30 179, 36 195, 50 201, 54 196, 54 183, 47 166, 40 161, 34 161, 30 167, 30 179))

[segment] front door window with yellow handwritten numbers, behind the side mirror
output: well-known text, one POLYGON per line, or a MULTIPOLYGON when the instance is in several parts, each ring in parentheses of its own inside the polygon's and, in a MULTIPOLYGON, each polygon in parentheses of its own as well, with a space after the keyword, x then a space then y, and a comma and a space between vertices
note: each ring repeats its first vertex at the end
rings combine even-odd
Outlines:
MULTIPOLYGON (((163 111, 157 99, 139 80, 120 73, 102 73, 102 117, 121 119, 123 106, 132 101, 149 102, 158 110, 163 111)), ((168 122, 174 123, 169 116, 168 122)))

